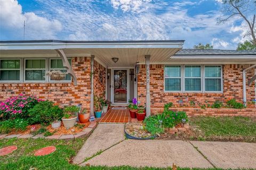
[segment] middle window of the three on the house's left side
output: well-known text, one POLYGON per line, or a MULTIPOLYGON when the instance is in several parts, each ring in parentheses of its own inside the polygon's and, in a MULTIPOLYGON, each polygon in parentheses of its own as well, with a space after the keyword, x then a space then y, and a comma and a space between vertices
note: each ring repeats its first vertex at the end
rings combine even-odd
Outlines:
POLYGON ((25 81, 45 81, 46 60, 25 60, 25 81))

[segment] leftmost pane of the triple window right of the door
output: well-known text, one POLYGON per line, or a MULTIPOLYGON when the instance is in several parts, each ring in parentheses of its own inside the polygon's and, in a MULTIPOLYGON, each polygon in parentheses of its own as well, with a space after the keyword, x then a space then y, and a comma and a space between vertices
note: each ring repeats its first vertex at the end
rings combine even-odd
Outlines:
POLYGON ((166 91, 181 91, 181 66, 166 65, 164 67, 166 91))

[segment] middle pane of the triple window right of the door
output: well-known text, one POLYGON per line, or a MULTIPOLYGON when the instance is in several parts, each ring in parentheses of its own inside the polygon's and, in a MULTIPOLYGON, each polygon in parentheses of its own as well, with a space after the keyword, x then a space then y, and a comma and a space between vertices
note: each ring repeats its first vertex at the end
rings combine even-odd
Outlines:
POLYGON ((201 91, 201 65, 185 65, 185 91, 201 91))

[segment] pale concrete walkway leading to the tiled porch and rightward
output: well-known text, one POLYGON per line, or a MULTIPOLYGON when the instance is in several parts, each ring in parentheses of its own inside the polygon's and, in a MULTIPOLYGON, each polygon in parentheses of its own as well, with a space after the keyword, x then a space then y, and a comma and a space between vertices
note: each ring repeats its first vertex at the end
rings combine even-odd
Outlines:
POLYGON ((74 162, 81 166, 167 167, 174 163, 190 168, 256 168, 256 143, 124 140, 123 131, 124 124, 99 124, 74 162))

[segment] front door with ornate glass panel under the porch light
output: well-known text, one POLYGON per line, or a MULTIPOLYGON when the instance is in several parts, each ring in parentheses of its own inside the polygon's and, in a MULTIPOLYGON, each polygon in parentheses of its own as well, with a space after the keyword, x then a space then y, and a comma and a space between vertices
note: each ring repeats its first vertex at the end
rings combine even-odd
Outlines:
POLYGON ((112 103, 126 105, 129 98, 128 69, 113 69, 112 71, 112 103))

